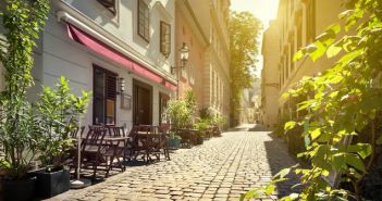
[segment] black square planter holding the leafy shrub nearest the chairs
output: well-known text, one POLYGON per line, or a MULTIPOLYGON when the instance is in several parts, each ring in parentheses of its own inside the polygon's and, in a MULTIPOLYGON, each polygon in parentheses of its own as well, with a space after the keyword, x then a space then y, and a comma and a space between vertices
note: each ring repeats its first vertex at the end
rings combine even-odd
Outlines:
POLYGON ((39 198, 51 198, 71 188, 70 172, 64 168, 47 172, 46 169, 34 173, 37 177, 36 193, 39 198))

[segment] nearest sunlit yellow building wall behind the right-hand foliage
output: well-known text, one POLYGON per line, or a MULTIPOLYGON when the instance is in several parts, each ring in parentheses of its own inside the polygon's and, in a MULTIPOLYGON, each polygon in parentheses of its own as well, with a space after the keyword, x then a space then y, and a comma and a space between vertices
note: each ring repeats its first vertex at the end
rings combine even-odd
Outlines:
POLYGON ((280 1, 278 17, 281 22, 281 37, 279 42, 281 53, 279 56, 279 80, 281 83, 279 109, 281 109, 283 113, 287 112, 285 111, 286 108, 296 106, 291 105, 291 102, 288 103, 286 99, 281 98, 284 92, 293 88, 304 76, 316 76, 320 72, 332 66, 333 60, 328 60, 325 58, 320 59, 316 63, 310 59, 294 63, 293 54, 299 48, 308 46, 311 42, 310 38, 319 36, 328 26, 338 21, 337 15, 342 12, 342 5, 345 1, 346 0, 280 1), (291 3, 293 3, 293 5, 291 3), (313 17, 309 16, 309 7, 316 9, 313 17), (309 26, 311 25, 313 25, 313 34, 309 35, 309 26), (298 42, 299 38, 300 42, 298 42))

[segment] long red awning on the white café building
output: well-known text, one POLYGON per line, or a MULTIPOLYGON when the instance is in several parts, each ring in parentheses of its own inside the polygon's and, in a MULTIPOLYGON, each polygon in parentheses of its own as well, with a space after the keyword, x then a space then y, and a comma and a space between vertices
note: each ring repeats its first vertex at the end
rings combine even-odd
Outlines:
POLYGON ((139 63, 133 61, 132 59, 127 58, 121 52, 112 49, 111 47, 104 45, 103 42, 99 41, 95 37, 88 35, 87 33, 81 30, 79 28, 69 23, 67 23, 67 34, 69 34, 69 37, 72 38, 74 41, 79 42, 86 46, 87 48, 89 48, 90 50, 114 62, 122 64, 127 70, 132 72, 136 72, 137 74, 146 78, 149 78, 158 84, 161 84, 171 90, 176 90, 176 86, 174 84, 170 83, 169 80, 164 79, 160 75, 151 72, 150 70, 140 65, 139 63))

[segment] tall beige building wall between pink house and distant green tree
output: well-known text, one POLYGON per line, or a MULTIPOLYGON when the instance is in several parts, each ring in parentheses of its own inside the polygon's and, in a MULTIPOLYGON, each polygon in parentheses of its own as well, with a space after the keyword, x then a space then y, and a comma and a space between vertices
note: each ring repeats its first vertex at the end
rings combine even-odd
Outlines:
MULTIPOLYGON (((201 76, 202 108, 230 121, 230 41, 227 15, 230 0, 184 0, 196 17, 200 41, 206 40, 198 76, 201 76)), ((180 27, 178 27, 180 28, 180 27)), ((194 33, 195 34, 195 33, 194 33)), ((200 48, 200 47, 199 47, 200 48)), ((182 85, 182 84, 181 84, 182 85)))

